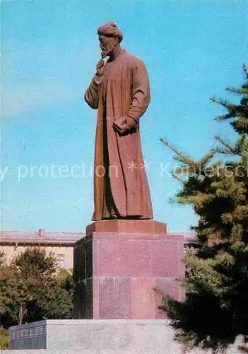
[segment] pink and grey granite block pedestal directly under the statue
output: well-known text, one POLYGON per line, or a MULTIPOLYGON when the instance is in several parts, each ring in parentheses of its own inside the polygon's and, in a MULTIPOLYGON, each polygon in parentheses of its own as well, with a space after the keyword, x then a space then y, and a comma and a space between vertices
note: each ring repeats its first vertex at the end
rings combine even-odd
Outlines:
POLYGON ((155 220, 93 222, 74 248, 74 319, 163 319, 154 288, 182 299, 184 239, 155 220))

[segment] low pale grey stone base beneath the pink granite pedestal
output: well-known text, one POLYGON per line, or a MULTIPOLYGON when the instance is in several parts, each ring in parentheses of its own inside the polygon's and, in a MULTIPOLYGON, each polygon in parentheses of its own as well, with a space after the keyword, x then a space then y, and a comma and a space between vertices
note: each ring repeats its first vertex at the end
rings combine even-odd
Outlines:
MULTIPOLYGON (((45 321, 11 327, 12 350, 6 354, 186 354, 174 340, 167 320, 74 320, 45 321)), ((241 338, 227 354, 237 354, 241 338)), ((0 353, 1 350, 0 350, 0 353)), ((211 354, 194 349, 190 354, 211 354)))

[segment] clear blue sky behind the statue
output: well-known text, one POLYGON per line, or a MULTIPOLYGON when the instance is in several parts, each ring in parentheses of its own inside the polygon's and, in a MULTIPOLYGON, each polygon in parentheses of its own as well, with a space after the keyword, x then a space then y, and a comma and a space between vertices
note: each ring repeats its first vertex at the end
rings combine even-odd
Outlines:
POLYGON ((180 184, 161 174, 172 153, 159 139, 197 159, 215 134, 234 138, 215 122, 220 110, 209 98, 228 98, 225 87, 242 83, 246 16, 241 0, 1 1, 1 229, 84 232, 90 223, 96 111, 82 96, 100 59, 96 29, 110 20, 150 76, 141 139, 155 219, 175 231, 195 224, 190 207, 168 202, 180 184), (81 164, 85 176, 66 167, 55 176, 81 164), (18 178, 18 169, 27 176, 18 178))

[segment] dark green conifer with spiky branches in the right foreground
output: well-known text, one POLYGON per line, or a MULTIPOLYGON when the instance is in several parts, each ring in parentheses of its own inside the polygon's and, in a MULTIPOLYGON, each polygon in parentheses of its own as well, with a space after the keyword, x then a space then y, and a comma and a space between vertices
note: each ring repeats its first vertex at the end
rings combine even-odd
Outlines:
POLYGON ((240 104, 211 98, 225 109, 215 119, 230 122, 237 132, 233 146, 215 137, 220 147, 194 161, 161 139, 179 161, 174 176, 183 186, 175 202, 192 205, 199 222, 184 259, 185 299, 165 296, 160 309, 184 346, 213 353, 225 351, 237 336, 248 341, 248 72, 243 69, 242 87, 227 89, 241 97, 240 104), (218 154, 228 161, 215 161, 218 154))

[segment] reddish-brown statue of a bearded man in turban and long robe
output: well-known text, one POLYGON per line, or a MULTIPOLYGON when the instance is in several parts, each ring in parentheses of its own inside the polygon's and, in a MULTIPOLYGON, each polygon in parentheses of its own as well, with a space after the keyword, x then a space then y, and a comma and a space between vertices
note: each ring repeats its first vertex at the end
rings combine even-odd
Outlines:
POLYGON ((92 219, 153 219, 139 133, 150 103, 146 66, 122 49, 116 23, 101 25, 98 36, 102 59, 85 91, 85 101, 98 109, 92 219))

